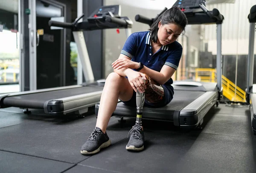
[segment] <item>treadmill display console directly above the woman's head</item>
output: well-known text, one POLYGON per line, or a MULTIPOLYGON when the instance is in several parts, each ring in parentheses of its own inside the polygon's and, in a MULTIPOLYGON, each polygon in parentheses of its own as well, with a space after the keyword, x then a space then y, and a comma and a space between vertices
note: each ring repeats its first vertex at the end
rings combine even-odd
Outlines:
POLYGON ((205 0, 177 0, 173 6, 177 6, 183 12, 193 12, 200 9, 200 4, 205 6, 205 0))

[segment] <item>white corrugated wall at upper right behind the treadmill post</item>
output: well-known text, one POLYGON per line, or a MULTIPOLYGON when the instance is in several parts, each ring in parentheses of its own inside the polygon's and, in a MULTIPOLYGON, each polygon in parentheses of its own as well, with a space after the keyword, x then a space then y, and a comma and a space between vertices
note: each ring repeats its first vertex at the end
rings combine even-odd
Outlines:
MULTIPOLYGON (((247 17, 253 5, 256 5, 256 0, 236 0, 236 3, 219 3, 207 6, 209 10, 218 9, 224 16, 222 24, 223 55, 248 54, 250 24, 247 17)), ((205 25, 204 41, 209 43, 208 51, 216 55, 215 25, 205 25)))

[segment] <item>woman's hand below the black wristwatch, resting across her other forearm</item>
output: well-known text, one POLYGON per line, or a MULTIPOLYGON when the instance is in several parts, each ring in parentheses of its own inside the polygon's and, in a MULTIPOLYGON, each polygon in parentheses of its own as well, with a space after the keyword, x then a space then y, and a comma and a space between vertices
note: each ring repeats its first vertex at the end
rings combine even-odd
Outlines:
POLYGON ((126 58, 117 59, 112 63, 113 69, 122 69, 122 68, 129 68, 129 69, 138 69, 139 63, 128 60, 126 58))

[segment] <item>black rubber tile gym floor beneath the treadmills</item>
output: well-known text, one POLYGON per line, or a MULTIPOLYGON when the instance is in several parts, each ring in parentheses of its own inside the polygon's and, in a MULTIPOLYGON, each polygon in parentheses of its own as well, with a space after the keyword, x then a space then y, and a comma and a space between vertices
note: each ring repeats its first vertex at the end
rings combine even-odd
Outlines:
POLYGON ((135 118, 112 117, 111 146, 93 156, 80 153, 95 115, 54 118, 18 108, 0 110, 1 173, 255 173, 256 136, 249 107, 215 107, 202 129, 183 131, 163 121, 143 121, 145 150, 128 152, 135 118))

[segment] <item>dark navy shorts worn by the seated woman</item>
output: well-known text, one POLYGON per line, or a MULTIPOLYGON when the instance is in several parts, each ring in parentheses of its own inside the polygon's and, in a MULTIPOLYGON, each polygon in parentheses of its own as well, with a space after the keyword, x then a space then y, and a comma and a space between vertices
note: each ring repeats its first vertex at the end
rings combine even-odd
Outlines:
MULTIPOLYGON (((163 90, 164 90, 164 97, 161 101, 157 102, 157 103, 149 103, 147 101, 147 99, 145 98, 145 103, 144 106, 146 107, 164 107, 167 104, 169 104, 172 101, 173 95, 174 95, 174 91, 173 91, 173 87, 167 88, 166 86, 162 85, 163 90)), ((127 104, 128 106, 131 107, 137 107, 136 105, 136 92, 133 92, 133 95, 131 97, 131 99, 129 101, 122 101, 124 104, 127 104)))

